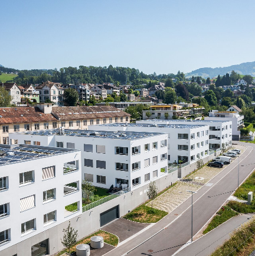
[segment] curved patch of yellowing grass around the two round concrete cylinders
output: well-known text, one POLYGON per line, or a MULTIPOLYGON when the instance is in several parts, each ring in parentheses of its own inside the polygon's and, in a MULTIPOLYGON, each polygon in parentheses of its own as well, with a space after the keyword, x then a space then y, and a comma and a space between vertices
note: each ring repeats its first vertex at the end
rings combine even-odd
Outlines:
MULTIPOLYGON (((99 231, 95 232, 94 234, 91 234, 89 236, 86 236, 86 237, 80 239, 76 243, 76 245, 79 245, 79 244, 89 244, 90 243, 90 238, 92 236, 95 236, 95 235, 103 236, 104 242, 106 242, 106 244, 110 244, 110 245, 113 245, 115 247, 117 246, 117 244, 119 244, 119 238, 117 238, 116 235, 110 234, 110 233, 108 233, 106 231, 103 231, 103 230, 99 230, 99 231)), ((71 248, 71 253, 76 251, 76 245, 74 245, 71 248)), ((68 252, 68 250, 64 249, 63 251, 58 252, 57 256, 64 254, 64 252, 68 252)))

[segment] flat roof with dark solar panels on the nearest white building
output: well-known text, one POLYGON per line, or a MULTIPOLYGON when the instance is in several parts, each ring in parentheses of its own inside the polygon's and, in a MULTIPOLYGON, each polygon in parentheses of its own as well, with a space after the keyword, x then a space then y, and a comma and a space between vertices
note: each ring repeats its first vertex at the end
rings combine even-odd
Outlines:
POLYGON ((0 166, 21 161, 34 160, 41 157, 63 154, 71 151, 69 148, 42 147, 37 145, 4 145, 0 144, 0 166))

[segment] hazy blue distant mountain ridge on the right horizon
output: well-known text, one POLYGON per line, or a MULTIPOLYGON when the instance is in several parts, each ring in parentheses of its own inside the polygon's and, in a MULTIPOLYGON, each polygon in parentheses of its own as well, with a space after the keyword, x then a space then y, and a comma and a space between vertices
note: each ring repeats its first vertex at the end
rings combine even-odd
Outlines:
POLYGON ((239 74, 250 74, 251 76, 255 76, 255 61, 245 62, 229 67, 215 67, 214 69, 212 67, 202 67, 185 74, 185 77, 189 78, 191 76, 202 76, 204 78, 212 78, 217 77, 218 74, 223 76, 226 73, 231 73, 232 70, 239 74))

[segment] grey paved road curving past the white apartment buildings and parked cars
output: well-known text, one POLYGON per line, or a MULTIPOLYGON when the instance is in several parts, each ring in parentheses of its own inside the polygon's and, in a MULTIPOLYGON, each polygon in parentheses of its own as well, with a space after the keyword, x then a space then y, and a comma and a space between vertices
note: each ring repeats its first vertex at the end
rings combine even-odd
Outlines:
MULTIPOLYGON (((238 142, 242 144, 242 142, 238 142)), ((240 183, 255 167, 254 144, 240 156, 240 183), (241 166, 244 165, 244 166, 241 166)), ((193 195, 193 234, 223 205, 237 188, 238 159, 193 195)), ((117 247, 108 255, 172 255, 191 239, 191 197, 146 232, 117 247)), ((192 255, 191 255, 192 256, 192 255)))

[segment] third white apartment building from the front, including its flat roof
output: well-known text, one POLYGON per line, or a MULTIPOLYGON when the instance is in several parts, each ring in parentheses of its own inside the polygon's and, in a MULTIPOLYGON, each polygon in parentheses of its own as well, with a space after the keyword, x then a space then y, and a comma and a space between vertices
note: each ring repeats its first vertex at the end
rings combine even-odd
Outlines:
POLYGON ((188 124, 106 124, 89 129, 103 131, 164 132, 168 135, 168 163, 192 163, 209 154, 209 126, 188 124))

